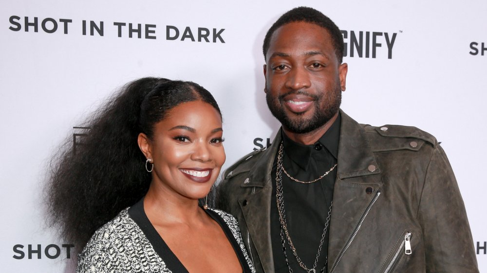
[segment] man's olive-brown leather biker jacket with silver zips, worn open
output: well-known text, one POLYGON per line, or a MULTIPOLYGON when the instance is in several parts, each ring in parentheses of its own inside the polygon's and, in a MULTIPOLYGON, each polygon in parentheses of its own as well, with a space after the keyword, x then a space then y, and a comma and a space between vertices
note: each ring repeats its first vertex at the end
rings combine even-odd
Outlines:
MULTIPOLYGON (((478 272, 465 206, 436 139, 340 113, 328 272, 478 272)), ((216 205, 238 219, 257 272, 274 272, 271 170, 280 142, 281 132, 225 171, 217 188, 216 205)))

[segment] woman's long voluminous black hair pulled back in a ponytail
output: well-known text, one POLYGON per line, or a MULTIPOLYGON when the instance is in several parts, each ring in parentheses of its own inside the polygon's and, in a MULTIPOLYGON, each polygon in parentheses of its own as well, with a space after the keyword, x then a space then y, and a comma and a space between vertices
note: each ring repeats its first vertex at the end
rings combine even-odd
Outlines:
POLYGON ((50 162, 46 202, 50 224, 79 252, 94 232, 149 189, 151 175, 137 144, 155 123, 184 102, 203 101, 221 115, 213 96, 192 82, 142 78, 128 83, 83 126, 88 136, 61 145, 50 162))

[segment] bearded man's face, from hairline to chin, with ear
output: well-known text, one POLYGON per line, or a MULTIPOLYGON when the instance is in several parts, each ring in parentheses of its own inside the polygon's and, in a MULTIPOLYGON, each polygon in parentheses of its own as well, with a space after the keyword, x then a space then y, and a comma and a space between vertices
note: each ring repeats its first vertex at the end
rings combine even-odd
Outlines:
POLYGON ((339 64, 328 31, 306 22, 278 28, 264 65, 267 105, 282 126, 297 134, 314 131, 338 111, 347 64, 339 64))

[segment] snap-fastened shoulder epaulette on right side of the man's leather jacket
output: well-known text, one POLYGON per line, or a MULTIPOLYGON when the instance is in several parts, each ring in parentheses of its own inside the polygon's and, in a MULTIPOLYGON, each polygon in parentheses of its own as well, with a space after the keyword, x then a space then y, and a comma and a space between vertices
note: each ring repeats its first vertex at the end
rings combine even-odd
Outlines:
POLYGON ((371 126, 360 124, 367 133, 373 152, 412 150, 419 151, 425 145, 435 148, 438 141, 430 133, 414 126, 386 124, 371 126))

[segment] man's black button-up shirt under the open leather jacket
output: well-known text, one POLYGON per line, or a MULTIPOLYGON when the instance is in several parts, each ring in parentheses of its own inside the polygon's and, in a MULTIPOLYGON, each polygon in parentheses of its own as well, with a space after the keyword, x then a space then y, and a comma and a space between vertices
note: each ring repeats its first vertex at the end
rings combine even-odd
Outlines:
MULTIPOLYGON (((283 167, 292 177, 300 181, 312 181, 329 171, 338 158, 338 140, 341 118, 338 115, 332 126, 313 145, 294 142, 282 132, 284 148, 283 167)), ((275 143, 279 145, 278 143, 275 143)), ((272 167, 271 199, 271 238, 274 267, 277 273, 289 272, 281 243, 281 224, 276 203, 277 155, 272 167)), ((328 210, 333 199, 333 187, 337 177, 337 168, 328 175, 310 184, 301 184, 287 177, 282 172, 284 209, 289 236, 301 261, 308 269, 313 268, 318 246, 323 234, 328 210)), ((327 256, 329 227, 326 232, 316 271, 319 272, 327 256)), ((285 234, 283 235, 286 239, 285 234)), ((286 239, 286 255, 295 273, 304 272, 294 257, 286 239)), ((325 268, 326 272, 326 268, 325 268)))

